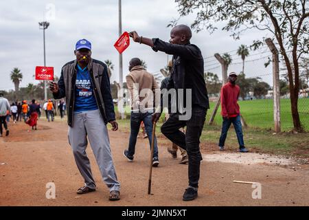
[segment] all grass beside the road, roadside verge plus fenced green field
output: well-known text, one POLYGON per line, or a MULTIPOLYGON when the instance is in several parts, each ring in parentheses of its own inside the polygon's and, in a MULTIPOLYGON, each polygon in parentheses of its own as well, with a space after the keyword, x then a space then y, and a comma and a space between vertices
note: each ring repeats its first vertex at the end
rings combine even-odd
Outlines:
MULTIPOLYGON (((297 155, 298 157, 309 157, 309 135, 308 133, 273 133, 273 100, 246 100, 240 101, 240 111, 244 116, 249 128, 244 129, 244 142, 251 151, 261 153, 274 153, 279 155, 297 155)), ((201 142, 207 144, 218 144, 221 132, 222 117, 220 109, 217 112, 214 124, 209 126, 209 118, 214 109, 214 102, 210 103, 207 113, 201 142)), ((129 110, 130 108, 128 107, 129 110)), ((115 107, 117 112, 117 107, 115 107)), ((299 99, 299 115, 301 123, 306 131, 309 131, 309 98, 299 99)), ((163 122, 164 114, 157 123, 157 135, 161 133, 159 127, 163 122)), ((290 114, 290 100, 281 100, 281 122, 282 131, 293 129, 293 120, 290 114)), ((122 131, 130 131, 130 117, 126 113, 126 120, 118 120, 122 131)), ((233 127, 229 129, 226 141, 227 148, 237 150, 238 141, 233 127)))

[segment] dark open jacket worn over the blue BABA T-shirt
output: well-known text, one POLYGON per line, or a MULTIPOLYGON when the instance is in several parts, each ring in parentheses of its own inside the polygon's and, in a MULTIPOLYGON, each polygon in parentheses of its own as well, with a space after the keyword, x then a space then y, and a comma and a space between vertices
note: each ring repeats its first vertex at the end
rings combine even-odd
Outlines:
MULTIPOLYGON (((115 120, 113 98, 111 96, 111 85, 109 83, 107 66, 101 61, 91 59, 87 66, 95 100, 104 122, 115 120)), ((71 61, 62 67, 61 76, 58 80, 58 94, 53 94, 55 99, 64 98, 67 103, 67 124, 73 126, 73 111, 75 100, 75 85, 77 74, 77 61, 71 61)))

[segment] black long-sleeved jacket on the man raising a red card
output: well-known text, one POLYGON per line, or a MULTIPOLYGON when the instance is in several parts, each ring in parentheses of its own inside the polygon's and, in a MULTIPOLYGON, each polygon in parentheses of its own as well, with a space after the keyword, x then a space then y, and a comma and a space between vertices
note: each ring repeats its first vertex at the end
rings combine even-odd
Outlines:
POLYGON ((152 39, 155 52, 172 54, 173 67, 168 89, 192 89, 192 107, 209 109, 206 83, 204 79, 204 59, 201 50, 193 44, 176 45, 152 39))

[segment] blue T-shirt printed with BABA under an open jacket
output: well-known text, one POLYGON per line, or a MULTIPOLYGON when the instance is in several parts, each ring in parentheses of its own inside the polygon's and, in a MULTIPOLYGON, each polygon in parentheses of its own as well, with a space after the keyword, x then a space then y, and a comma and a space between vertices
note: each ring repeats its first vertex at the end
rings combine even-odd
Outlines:
POLYGON ((93 94, 93 85, 91 83, 89 70, 87 67, 82 69, 78 65, 75 85, 74 113, 96 109, 98 109, 98 105, 93 94))

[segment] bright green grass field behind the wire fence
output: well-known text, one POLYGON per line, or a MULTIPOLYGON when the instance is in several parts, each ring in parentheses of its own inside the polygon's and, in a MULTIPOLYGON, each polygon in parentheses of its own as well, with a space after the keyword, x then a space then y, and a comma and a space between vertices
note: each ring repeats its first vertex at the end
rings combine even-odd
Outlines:
MULTIPOLYGON (((244 120, 247 122, 249 127, 273 130, 273 100, 245 100, 238 101, 238 104, 240 105, 240 113, 244 117, 244 120)), ((214 105, 215 102, 210 103, 210 109, 207 113, 207 122, 209 122, 214 105)), ((290 100, 280 100, 280 107, 282 131, 291 131, 293 129, 293 119, 290 110, 290 100)), ((301 124, 305 131, 309 131, 309 98, 300 98, 298 109, 301 124)), ((222 124, 222 117, 220 112, 221 108, 218 109, 214 119, 215 124, 222 124)))

